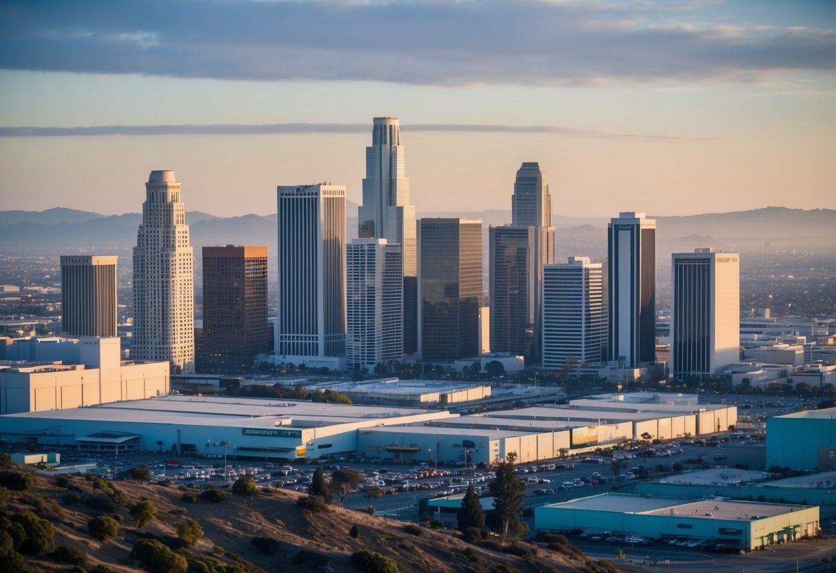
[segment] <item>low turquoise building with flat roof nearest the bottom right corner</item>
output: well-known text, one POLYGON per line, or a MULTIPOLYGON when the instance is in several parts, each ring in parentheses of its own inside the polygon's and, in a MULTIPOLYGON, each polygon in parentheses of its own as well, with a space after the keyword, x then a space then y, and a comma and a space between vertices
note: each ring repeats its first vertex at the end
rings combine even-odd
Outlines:
POLYGON ((534 508, 536 530, 704 540, 752 550, 819 532, 818 506, 599 494, 534 508))

